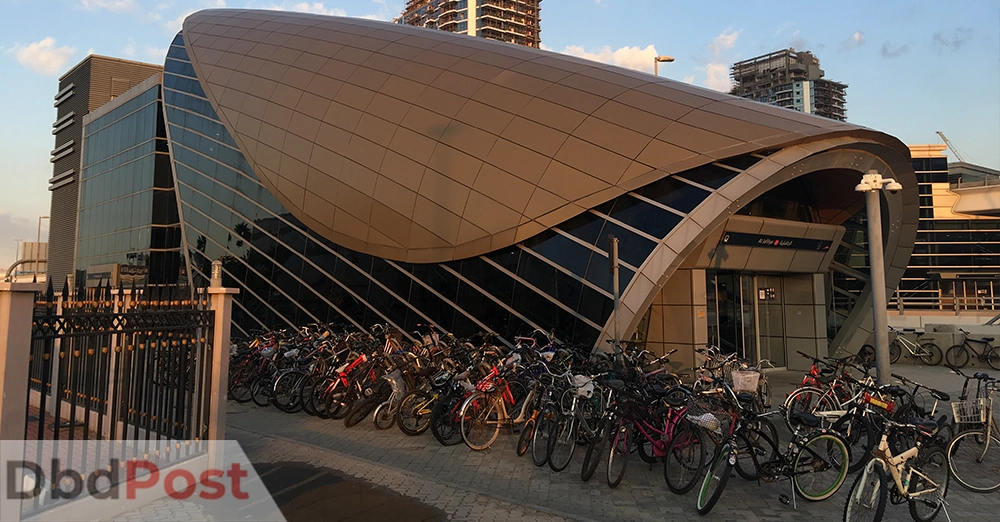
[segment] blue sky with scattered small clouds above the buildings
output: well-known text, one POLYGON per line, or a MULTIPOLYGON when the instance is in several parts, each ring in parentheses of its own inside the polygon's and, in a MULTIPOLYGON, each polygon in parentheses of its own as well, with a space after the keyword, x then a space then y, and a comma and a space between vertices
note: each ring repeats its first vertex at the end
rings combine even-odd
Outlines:
MULTIPOLYGON (((0 268, 15 240, 47 237, 58 79, 88 54, 163 64, 184 18, 213 8, 391 20, 404 0, 0 0, 0 268)), ((1000 169, 996 0, 542 0, 542 47, 729 90, 729 67, 779 49, 812 51, 849 85, 848 122, 906 144, 943 143, 1000 169)), ((954 161, 954 155, 949 152, 954 161)), ((5 271, 5 270, 4 270, 5 271)))

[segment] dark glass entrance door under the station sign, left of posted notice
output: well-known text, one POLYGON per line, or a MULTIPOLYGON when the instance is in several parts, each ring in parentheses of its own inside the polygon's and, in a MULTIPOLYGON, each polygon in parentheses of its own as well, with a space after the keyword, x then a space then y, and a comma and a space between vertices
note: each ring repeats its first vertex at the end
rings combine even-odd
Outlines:
POLYGON ((708 338, 722 353, 756 360, 756 285, 753 274, 708 271, 708 338))

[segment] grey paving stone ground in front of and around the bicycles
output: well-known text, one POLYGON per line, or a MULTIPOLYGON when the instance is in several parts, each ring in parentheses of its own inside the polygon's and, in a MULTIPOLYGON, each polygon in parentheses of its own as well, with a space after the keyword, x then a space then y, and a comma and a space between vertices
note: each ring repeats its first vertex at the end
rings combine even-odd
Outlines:
MULTIPOLYGON (((943 369, 899 371, 949 392, 961 387, 961 379, 943 369)), ((786 381, 796 379, 801 379, 801 372, 775 375, 775 399, 787 391, 786 381)), ((600 468, 591 481, 580 480, 584 453, 580 447, 569 467, 554 473, 548 467, 535 467, 527 455, 517 457, 516 437, 509 433, 502 434, 490 450, 474 452, 464 445, 443 447, 429 433, 407 437, 397 428, 377 430, 370 420, 348 429, 340 421, 253 404, 230 402, 228 408, 228 437, 240 441, 255 464, 307 460, 329 466, 437 507, 451 520, 507 520, 517 513, 518 519, 528 520, 834 521, 843 517, 855 477, 848 476, 830 499, 799 500, 793 510, 778 500, 781 494, 790 494, 787 481, 758 485, 734 475, 715 509, 698 517, 693 492, 673 495, 664 484, 662 467, 650 469, 638 458, 629 462, 622 484, 611 489, 600 468)), ((1000 511, 1000 493, 975 494, 957 483, 949 488, 948 501, 954 521, 996 520, 1000 511)), ((905 504, 889 505, 885 520, 911 518, 905 504)))

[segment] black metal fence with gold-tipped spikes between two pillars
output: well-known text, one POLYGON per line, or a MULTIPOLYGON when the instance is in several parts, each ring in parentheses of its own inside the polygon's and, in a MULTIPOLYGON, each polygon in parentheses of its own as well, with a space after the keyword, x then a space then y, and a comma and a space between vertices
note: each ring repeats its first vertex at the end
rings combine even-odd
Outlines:
POLYGON ((36 298, 25 439, 205 438, 213 321, 207 294, 187 287, 50 284, 36 298))

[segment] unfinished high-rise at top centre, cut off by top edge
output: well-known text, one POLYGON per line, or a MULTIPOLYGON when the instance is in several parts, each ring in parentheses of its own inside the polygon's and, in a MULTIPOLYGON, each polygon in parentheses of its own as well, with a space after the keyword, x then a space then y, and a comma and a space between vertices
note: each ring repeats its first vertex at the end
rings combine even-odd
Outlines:
POLYGON ((396 23, 526 47, 541 44, 542 0, 408 0, 396 23))

